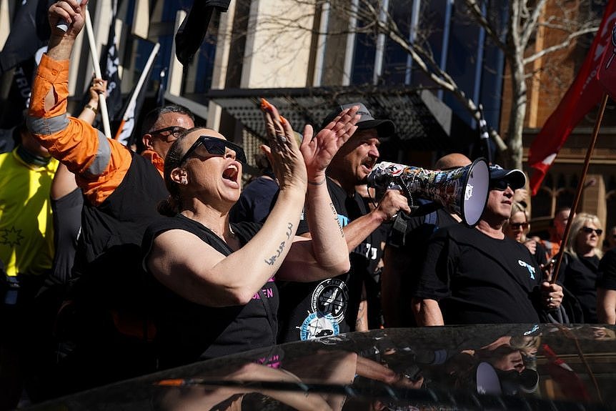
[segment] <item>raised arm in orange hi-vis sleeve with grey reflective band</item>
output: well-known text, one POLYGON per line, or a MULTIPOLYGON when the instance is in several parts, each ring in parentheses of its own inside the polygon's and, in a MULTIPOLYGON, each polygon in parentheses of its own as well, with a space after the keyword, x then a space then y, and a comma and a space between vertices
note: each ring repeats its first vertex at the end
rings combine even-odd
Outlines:
POLYGON ((77 0, 61 0, 49 7, 49 49, 34 77, 27 123, 34 138, 76 174, 77 184, 89 202, 97 205, 124 178, 131 154, 119 142, 106 139, 89 122, 66 114, 69 59, 84 26, 85 7, 77 0), (69 24, 66 33, 55 28, 59 19, 69 24))

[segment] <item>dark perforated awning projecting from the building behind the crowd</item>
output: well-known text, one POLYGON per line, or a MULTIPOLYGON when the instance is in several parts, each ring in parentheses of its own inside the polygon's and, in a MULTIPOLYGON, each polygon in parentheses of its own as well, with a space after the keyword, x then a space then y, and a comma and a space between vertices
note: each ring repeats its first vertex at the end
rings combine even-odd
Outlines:
POLYGON ((362 101, 377 119, 391 119, 396 135, 387 142, 400 149, 466 151, 477 132, 426 89, 377 86, 301 89, 211 90, 207 99, 219 104, 258 136, 265 136, 259 101, 265 97, 298 131, 304 124, 319 129, 322 119, 339 104, 362 101))

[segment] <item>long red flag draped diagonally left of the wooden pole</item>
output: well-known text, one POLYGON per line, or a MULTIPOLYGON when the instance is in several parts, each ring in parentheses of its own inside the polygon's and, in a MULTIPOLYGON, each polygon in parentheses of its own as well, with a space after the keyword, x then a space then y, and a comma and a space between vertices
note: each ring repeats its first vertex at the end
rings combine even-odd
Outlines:
POLYGON ((605 6, 599 31, 580 72, 530 146, 528 163, 534 169, 530 177, 532 195, 537 194, 547 169, 567 141, 571 130, 601 100, 604 90, 596 76, 603 51, 610 44, 610 29, 615 19, 616 0, 610 0, 605 6))

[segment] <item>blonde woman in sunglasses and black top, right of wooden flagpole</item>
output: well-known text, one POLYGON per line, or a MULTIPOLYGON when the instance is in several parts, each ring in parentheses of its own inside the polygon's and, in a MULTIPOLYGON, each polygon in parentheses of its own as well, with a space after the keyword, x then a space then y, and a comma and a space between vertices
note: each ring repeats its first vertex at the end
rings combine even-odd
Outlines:
POLYGON ((597 323, 597 272, 602 257, 602 224, 593 214, 580 213, 571 224, 558 281, 580 302, 585 323, 597 323))

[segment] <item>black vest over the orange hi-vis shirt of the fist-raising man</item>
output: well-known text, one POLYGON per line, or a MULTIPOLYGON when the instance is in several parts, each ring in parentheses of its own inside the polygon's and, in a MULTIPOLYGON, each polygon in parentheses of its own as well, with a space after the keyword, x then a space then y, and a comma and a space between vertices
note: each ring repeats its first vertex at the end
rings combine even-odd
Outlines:
POLYGON ((71 294, 86 310, 142 310, 141 240, 160 218, 157 205, 169 196, 158 170, 131 152, 119 186, 104 202, 84 203, 71 294), (121 286, 120 286, 121 284, 121 286))

